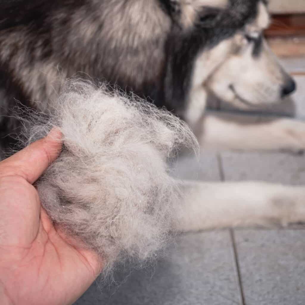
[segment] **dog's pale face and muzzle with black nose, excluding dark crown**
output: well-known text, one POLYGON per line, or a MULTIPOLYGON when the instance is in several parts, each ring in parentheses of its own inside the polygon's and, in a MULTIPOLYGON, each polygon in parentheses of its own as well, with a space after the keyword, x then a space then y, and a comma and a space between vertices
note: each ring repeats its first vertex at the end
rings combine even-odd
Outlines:
MULTIPOLYGON (((264 2, 257 3, 255 18, 222 42, 222 61, 210 69, 204 85, 220 99, 234 104, 273 104, 296 88, 263 37, 270 17, 264 2)), ((206 59, 219 53, 220 45, 203 53, 206 59)), ((214 62, 214 61, 212 61, 214 62)), ((204 63, 202 63, 204 65, 204 63)), ((208 69, 209 70, 209 69, 208 69)))

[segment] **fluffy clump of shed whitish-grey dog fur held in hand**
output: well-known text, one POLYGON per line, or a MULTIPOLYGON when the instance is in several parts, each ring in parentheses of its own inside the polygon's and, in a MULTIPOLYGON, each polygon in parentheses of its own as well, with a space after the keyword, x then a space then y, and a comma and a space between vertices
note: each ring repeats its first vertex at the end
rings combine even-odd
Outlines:
POLYGON ((106 261, 105 276, 117 263, 141 267, 154 259, 170 241, 182 200, 168 158, 196 145, 185 123, 85 82, 66 86, 47 115, 29 114, 23 145, 53 126, 63 134, 60 156, 36 182, 56 225, 106 261))

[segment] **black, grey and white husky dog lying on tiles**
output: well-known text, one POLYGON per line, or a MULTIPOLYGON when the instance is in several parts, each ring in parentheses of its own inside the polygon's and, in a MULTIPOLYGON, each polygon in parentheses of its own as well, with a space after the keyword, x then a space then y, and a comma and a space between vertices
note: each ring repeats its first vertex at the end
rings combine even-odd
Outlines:
MULTIPOLYGON (((203 116, 209 92, 255 105, 294 91, 262 36, 270 22, 264 0, 17 0, 0 14, 4 148, 20 127, 16 101, 44 111, 66 79, 90 77, 165 106, 201 145, 305 149, 304 123, 239 126, 203 116)), ((188 200, 177 231, 305 219, 304 187, 190 181, 182 188, 188 200)))

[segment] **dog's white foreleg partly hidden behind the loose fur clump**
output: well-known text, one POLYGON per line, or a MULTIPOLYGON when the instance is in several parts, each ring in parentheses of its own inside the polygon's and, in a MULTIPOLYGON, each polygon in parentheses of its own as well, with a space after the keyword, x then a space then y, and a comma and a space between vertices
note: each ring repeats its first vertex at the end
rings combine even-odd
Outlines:
POLYGON ((305 187, 264 182, 181 182, 174 230, 197 231, 305 220, 305 187))

